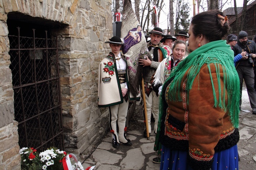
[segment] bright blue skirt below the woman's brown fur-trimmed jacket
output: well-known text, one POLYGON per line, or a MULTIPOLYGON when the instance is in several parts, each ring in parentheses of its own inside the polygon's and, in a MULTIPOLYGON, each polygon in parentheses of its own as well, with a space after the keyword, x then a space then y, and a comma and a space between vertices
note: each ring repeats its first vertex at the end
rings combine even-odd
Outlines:
MULTIPOLYGON (((187 152, 171 151, 162 145, 160 170, 192 170, 187 164, 187 152)), ((211 170, 238 170, 237 145, 215 153, 211 170)))

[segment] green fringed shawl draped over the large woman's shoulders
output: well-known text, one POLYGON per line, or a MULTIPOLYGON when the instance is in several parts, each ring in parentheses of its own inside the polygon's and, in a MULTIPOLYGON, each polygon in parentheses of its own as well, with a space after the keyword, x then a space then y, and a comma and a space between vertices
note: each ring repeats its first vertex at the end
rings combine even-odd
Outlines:
MULTIPOLYGON (((199 47, 198 49, 194 50, 190 55, 188 55, 183 61, 181 61, 176 67, 173 68, 169 79, 165 81, 170 83, 170 80, 172 83, 169 86, 170 91, 176 91, 176 93, 172 93, 171 96, 168 96, 168 98, 172 101, 182 101, 182 98, 180 95, 181 90, 181 82, 184 80, 184 75, 186 71, 188 71, 188 76, 186 77, 188 79, 187 85, 186 85, 186 101, 187 103, 189 98, 189 91, 192 88, 194 79, 196 75, 200 74, 199 71, 203 64, 207 64, 207 67, 209 69, 209 76, 211 77, 211 69, 210 64, 215 64, 215 69, 217 71, 217 82, 218 87, 214 87, 214 83, 212 80, 212 90, 215 92, 213 93, 214 97, 214 106, 213 107, 220 107, 224 109, 224 111, 228 112, 228 115, 230 116, 230 120, 233 123, 234 127, 238 127, 239 120, 238 120, 238 114, 239 114, 239 100, 240 100, 240 82, 239 77, 237 74, 237 71, 234 67, 233 63, 233 57, 234 52, 231 50, 230 45, 227 45, 226 40, 218 40, 214 42, 207 43, 206 45, 203 45, 202 47, 199 47), (224 73, 224 87, 221 89, 221 81, 220 81, 220 67, 223 69, 224 73), (227 94, 226 94, 226 90, 227 94), (218 94, 216 94, 218 93, 218 94), (216 96, 219 96, 217 98, 216 96), (177 97, 178 96, 178 97, 177 97), (225 98, 227 97, 227 105, 225 104, 225 98)), ((162 93, 165 92, 165 88, 167 85, 163 85, 162 93)), ((200 83, 200 82, 199 82, 200 83)), ((162 120, 162 115, 164 112, 163 105, 165 103, 165 94, 161 94, 160 97, 160 103, 159 103, 159 122, 157 127, 157 136, 159 137, 160 132, 160 126, 162 120)), ((166 112, 166 111, 165 111, 166 112)), ((163 118, 164 119, 164 118, 163 118)), ((157 141, 155 143, 155 147, 157 146, 157 141)), ((154 148, 155 150, 158 150, 154 148)))

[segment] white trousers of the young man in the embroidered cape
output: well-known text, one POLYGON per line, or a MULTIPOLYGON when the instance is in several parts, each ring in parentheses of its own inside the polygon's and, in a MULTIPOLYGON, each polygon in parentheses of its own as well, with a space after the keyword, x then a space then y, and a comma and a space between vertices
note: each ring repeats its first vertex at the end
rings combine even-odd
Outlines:
MULTIPOLYGON (((124 84, 121 84, 121 88, 125 87, 124 84)), ((125 122, 129 106, 129 101, 123 100, 122 104, 117 104, 109 107, 109 126, 112 138, 116 137, 118 143, 127 143, 125 139, 125 122), (119 136, 117 134, 117 124, 119 129, 119 136)))

